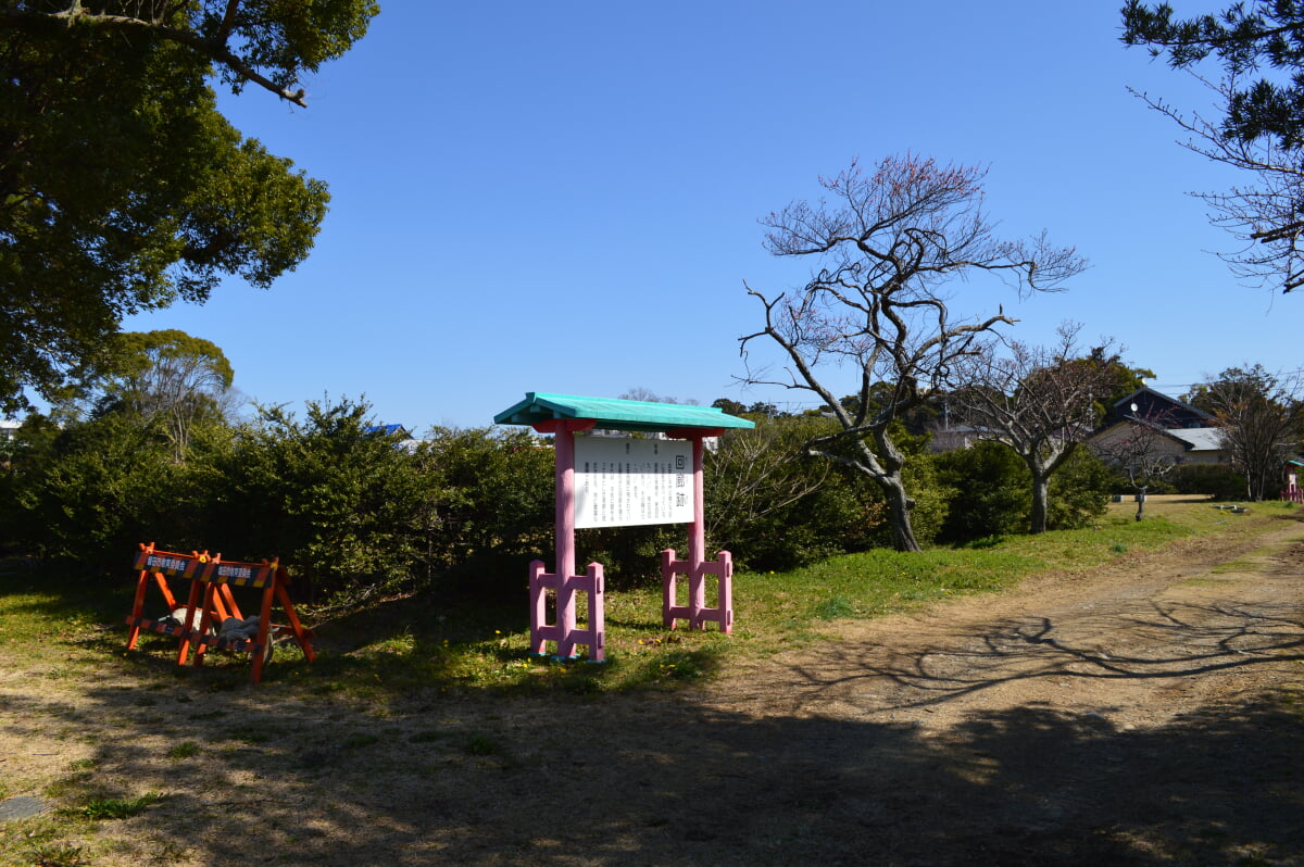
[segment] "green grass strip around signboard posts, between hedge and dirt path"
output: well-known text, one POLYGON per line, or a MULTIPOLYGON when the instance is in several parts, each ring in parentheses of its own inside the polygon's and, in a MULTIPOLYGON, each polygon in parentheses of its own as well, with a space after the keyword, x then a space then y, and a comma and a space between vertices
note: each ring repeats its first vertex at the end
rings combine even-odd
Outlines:
MULTIPOLYGON (((1129 551, 1162 548, 1192 533, 1264 532, 1299 519, 1288 503, 1261 503, 1230 515, 1202 502, 1149 507, 1144 522, 1120 505, 1089 528, 1041 536, 986 538, 922 554, 872 550, 785 572, 734 576, 735 630, 666 630, 660 587, 606 595, 606 661, 537 658, 528 648, 526 566, 519 584, 490 576, 455 593, 425 592, 319 623, 316 664, 283 645, 263 673, 267 688, 339 695, 373 703, 419 691, 597 694, 673 688, 713 674, 726 654, 765 653, 819 636, 838 618, 914 610, 948 597, 1000 591, 1042 570, 1077 571, 1129 551), (511 588, 502 592, 501 588, 511 588)), ((126 558, 124 557, 124 561, 126 558)), ((715 596, 708 588, 708 602, 715 596)), ((46 678, 74 677, 108 660, 136 677, 196 679, 211 691, 243 686, 248 657, 210 653, 202 670, 175 665, 175 640, 142 634, 125 652, 123 618, 132 574, 87 581, 9 563, 0 571, 0 649, 21 653, 46 678), (80 653, 69 653, 77 648, 80 653)), ((583 598, 583 596, 582 596, 583 598)), ((580 610, 583 622, 587 613, 580 610)), ((142 701, 147 701, 147 694, 142 701)))

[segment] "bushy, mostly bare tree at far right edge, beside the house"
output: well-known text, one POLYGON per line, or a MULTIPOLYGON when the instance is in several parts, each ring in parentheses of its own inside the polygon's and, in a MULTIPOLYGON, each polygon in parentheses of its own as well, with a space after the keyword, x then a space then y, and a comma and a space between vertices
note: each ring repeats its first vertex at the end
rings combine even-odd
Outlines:
POLYGON ((1304 374, 1273 374, 1261 365, 1230 368, 1196 386, 1193 405, 1213 415, 1232 465, 1245 475, 1249 499, 1274 495, 1282 467, 1299 447, 1304 374))

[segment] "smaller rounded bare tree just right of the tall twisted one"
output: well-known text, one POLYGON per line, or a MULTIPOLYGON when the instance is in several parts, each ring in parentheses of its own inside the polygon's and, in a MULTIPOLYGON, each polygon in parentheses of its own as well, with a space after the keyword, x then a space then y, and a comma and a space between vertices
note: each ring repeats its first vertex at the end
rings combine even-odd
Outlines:
POLYGON ((1065 322, 1050 348, 988 342, 952 372, 951 407, 979 439, 1009 446, 1033 477, 1030 532, 1046 532, 1050 480, 1095 428, 1097 402, 1110 392, 1118 355, 1108 345, 1078 357, 1081 325, 1065 322))

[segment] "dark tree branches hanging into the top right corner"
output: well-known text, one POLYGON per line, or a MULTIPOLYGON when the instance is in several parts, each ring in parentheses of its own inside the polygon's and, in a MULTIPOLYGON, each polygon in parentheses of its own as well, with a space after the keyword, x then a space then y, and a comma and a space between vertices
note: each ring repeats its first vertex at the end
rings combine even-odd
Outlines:
POLYGON ((1197 193, 1215 226, 1245 245, 1223 256, 1232 272, 1284 292, 1304 284, 1304 4, 1237 0, 1217 14, 1175 18, 1167 3, 1128 0, 1123 42, 1167 55, 1191 70, 1209 57, 1217 81, 1201 77, 1219 100, 1221 120, 1184 116, 1142 96, 1191 134, 1187 147, 1254 179, 1227 193, 1197 193))

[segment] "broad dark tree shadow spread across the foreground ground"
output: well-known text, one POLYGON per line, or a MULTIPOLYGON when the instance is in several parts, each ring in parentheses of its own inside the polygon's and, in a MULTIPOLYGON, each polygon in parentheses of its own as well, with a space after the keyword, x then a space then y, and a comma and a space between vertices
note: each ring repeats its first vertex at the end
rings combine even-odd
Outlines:
POLYGON ((677 696, 368 712, 202 687, 33 698, 10 734, 89 743, 86 791, 167 794, 98 827, 123 863, 1304 863, 1304 722, 1281 696, 1145 731, 1026 707, 943 734, 677 696), (168 757, 183 742, 200 751, 168 757))

